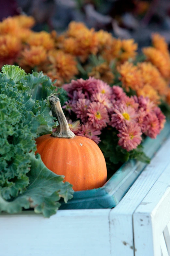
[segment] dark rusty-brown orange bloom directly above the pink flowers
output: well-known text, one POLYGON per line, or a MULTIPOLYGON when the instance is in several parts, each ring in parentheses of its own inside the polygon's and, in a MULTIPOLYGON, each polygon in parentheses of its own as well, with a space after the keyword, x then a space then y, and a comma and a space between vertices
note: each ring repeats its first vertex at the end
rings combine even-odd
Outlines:
POLYGON ((107 84, 113 83, 113 79, 114 79, 112 70, 106 62, 96 67, 93 67, 92 71, 88 73, 88 76, 94 77, 96 79, 100 79, 106 82, 107 84))

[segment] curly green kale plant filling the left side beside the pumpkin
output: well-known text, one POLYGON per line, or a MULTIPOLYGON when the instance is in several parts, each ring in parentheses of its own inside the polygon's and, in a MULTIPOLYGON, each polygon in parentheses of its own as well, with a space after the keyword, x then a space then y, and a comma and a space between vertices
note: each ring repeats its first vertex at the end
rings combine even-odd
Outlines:
MULTIPOLYGON (((5 211, 6 208, 4 207, 6 206, 7 209, 11 209, 11 205, 14 205, 14 209, 21 210, 22 207, 27 209, 29 205, 28 200, 24 199, 26 197, 23 197, 23 195, 27 195, 33 176, 37 175, 36 182, 39 182, 39 184, 44 182, 42 174, 39 175, 43 163, 40 158, 36 160, 34 155, 36 150, 35 138, 39 135, 51 133, 52 128, 58 125, 58 122, 54 123, 54 118, 50 116, 48 102, 48 97, 56 92, 55 89, 51 84, 50 78, 42 73, 34 72, 33 74, 26 75, 24 70, 17 66, 6 65, 2 68, 2 73, 0 73, 1 211, 5 211), (36 161, 39 161, 38 165, 36 161), (3 200, 5 203, 3 203, 4 206, 2 207, 3 200)), ((59 90, 59 94, 64 102, 66 93, 62 89, 59 90)), ((44 175, 52 175, 47 168, 43 167, 43 170, 44 175)), ((56 177, 55 174, 54 176, 56 177)), ((48 199, 49 189, 44 190, 44 197, 41 200, 38 199, 37 194, 35 196, 32 195, 31 198, 33 199, 31 200, 36 202, 35 205, 38 205, 35 207, 36 212, 42 212, 45 216, 55 212, 54 209, 57 209, 59 206, 59 203, 55 204, 58 201, 56 198, 64 195, 60 192, 59 196, 59 192, 56 192, 60 190, 60 186, 63 186, 62 180, 63 178, 58 178, 58 183, 53 185, 54 181, 51 179, 51 183, 49 183, 49 186, 53 187, 50 194, 51 199, 48 199), (44 206, 45 210, 41 206, 45 204, 43 200, 46 200, 46 196, 47 201, 51 200, 49 204, 54 204, 53 210, 49 208, 49 212, 46 206, 44 206)), ((34 182, 34 187, 36 182, 34 182)), ((68 186, 66 191, 69 196, 63 196, 65 201, 70 198, 70 193, 72 193, 71 187, 68 186)), ((7 212, 12 213, 12 210, 7 210, 7 212)))

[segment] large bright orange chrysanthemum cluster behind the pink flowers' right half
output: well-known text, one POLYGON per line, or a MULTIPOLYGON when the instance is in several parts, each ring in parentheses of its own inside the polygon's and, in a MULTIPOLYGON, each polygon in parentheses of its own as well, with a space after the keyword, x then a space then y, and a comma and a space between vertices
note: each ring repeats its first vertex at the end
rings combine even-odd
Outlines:
POLYGON ((168 83, 150 62, 141 62, 137 66, 125 62, 118 67, 118 72, 126 91, 131 88, 138 95, 148 96, 157 104, 160 101, 159 95, 164 97, 167 94, 168 83))

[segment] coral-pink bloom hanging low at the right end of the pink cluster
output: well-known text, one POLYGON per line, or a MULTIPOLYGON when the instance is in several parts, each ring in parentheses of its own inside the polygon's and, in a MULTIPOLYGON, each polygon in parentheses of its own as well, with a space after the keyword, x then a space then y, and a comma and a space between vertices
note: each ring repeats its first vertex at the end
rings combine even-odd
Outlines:
POLYGON ((156 136, 160 133, 160 123, 156 114, 154 112, 151 114, 149 113, 146 116, 144 123, 147 125, 147 131, 145 134, 150 138, 155 139, 156 136))

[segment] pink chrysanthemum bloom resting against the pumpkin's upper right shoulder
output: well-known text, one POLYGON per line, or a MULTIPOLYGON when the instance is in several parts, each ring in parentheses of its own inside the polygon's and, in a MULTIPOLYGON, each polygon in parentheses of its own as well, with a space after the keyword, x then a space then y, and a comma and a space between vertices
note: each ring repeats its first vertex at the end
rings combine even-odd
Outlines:
POLYGON ((87 137, 98 144, 101 140, 97 135, 100 135, 101 131, 96 130, 90 124, 81 125, 81 130, 78 132, 78 136, 87 137))

